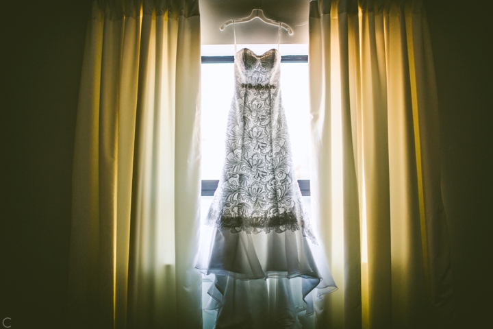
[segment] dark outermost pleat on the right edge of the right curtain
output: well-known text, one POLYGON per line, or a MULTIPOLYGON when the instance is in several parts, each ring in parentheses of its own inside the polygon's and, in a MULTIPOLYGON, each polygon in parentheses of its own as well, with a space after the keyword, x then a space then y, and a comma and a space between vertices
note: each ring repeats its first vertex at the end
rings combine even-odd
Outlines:
POLYGON ((429 288, 433 304, 447 306, 452 294, 450 245, 440 173, 440 130, 438 129, 438 96, 435 68, 428 23, 425 12, 406 16, 407 44, 411 62, 411 90, 413 96, 414 127, 419 143, 420 186, 422 185, 422 238, 426 241, 429 268, 429 288), (409 34, 409 30, 416 33, 409 34))

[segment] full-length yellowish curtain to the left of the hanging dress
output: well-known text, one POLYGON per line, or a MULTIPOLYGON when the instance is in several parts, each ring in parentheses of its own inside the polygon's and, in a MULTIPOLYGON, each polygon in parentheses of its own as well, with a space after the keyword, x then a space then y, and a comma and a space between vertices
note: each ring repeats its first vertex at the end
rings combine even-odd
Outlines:
POLYGON ((201 328, 197 0, 93 1, 68 328, 201 328))

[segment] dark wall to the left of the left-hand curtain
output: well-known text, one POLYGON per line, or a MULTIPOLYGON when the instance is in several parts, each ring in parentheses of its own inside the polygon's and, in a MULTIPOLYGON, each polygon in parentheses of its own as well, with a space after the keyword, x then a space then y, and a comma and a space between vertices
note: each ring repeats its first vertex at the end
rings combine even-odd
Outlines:
POLYGON ((2 1, 1 10, 0 320, 12 318, 12 329, 64 328, 90 1, 2 1))

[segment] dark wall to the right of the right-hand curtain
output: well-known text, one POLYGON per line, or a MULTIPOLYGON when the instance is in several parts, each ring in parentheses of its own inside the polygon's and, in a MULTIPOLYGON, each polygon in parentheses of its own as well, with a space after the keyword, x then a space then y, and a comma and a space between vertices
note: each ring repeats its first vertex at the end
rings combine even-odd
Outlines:
MULTIPOLYGON (((442 132, 457 328, 492 324, 491 3, 427 3, 442 132)), ((464 2, 465 3, 465 2, 464 2)))

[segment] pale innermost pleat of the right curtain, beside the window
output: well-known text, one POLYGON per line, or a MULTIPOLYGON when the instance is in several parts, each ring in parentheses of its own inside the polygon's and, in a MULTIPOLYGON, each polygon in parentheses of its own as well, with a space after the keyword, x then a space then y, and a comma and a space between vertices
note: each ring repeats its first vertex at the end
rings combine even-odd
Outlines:
MULTIPOLYGON (((331 170, 332 170, 332 136, 331 131, 325 129, 331 125, 331 112, 325 111, 326 108, 331 108, 331 56, 330 45, 327 47, 319 47, 322 40, 330 40, 331 33, 330 19, 320 19, 319 8, 313 6, 316 3, 310 3, 309 17, 309 58, 310 61, 317 62, 318 65, 309 66, 309 95, 311 99, 310 114, 312 116, 311 132, 312 132, 312 154, 319 154, 312 161, 312 176, 310 178, 310 189, 312 191, 312 216, 314 218, 323 218, 323 221, 314 221, 314 231, 318 233, 318 241, 323 246, 325 254, 331 255, 333 244, 323 243, 323 241, 332 241, 332 236, 335 234, 332 223, 332 189, 323 188, 323 186, 331 186, 331 170), (312 33, 316 30, 318 33, 312 33)), ((340 273, 334 269, 341 269, 335 264, 335 259, 327 258, 327 265, 331 269, 331 273, 338 282, 338 287, 342 287, 340 273)), ((333 293, 326 295, 325 300, 334 300, 333 293)), ((339 296, 340 297, 340 296, 339 296)), ((336 299, 338 300, 338 299, 336 299)), ((316 319, 319 328, 327 328, 329 317, 331 314, 340 313, 337 307, 341 305, 341 301, 327 302, 323 307, 315 304, 316 319)))

